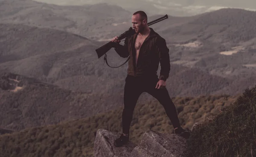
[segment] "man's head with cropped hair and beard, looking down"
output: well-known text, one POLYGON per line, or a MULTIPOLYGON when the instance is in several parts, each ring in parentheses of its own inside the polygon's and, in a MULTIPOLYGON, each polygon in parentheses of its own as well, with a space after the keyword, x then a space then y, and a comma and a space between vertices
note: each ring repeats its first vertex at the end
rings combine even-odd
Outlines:
POLYGON ((132 27, 135 32, 140 33, 148 27, 148 17, 143 11, 134 12, 131 17, 131 23, 133 23, 132 27))

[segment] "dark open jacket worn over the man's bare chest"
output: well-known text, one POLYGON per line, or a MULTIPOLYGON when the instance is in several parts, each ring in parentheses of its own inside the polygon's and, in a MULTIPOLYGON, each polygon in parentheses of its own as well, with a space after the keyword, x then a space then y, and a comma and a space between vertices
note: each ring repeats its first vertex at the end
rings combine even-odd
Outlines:
POLYGON ((128 62, 128 75, 131 76, 153 76, 157 74, 159 62, 161 66, 159 79, 166 81, 170 72, 169 49, 166 41, 152 28, 145 41, 140 47, 137 66, 135 66, 136 50, 134 44, 137 33, 125 38, 125 44, 118 44, 115 51, 123 58, 130 55, 128 62))

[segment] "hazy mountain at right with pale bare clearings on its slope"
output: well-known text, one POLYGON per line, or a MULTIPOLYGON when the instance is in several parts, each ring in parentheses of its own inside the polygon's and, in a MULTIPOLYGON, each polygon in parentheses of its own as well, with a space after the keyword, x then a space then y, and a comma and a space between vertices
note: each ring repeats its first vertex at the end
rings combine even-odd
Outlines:
POLYGON ((256 65, 256 22, 251 20, 255 17, 256 12, 220 9, 166 28, 162 33, 169 35, 166 38, 174 49, 175 63, 190 62, 192 67, 218 76, 250 76, 255 75, 250 68, 256 65))

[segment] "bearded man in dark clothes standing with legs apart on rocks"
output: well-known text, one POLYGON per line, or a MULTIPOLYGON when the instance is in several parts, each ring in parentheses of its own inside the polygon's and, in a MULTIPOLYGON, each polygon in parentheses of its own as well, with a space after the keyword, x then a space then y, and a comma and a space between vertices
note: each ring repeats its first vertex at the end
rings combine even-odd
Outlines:
MULTIPOLYGON (((135 34, 125 39, 125 44, 117 44, 116 52, 123 58, 130 55, 128 75, 125 78, 124 109, 122 112, 122 134, 115 140, 117 147, 129 140, 129 129, 137 100, 141 93, 147 92, 156 98, 165 108, 166 114, 175 128, 175 134, 185 138, 189 131, 180 126, 174 103, 166 89, 166 79, 169 77, 170 58, 166 41, 152 28, 148 27, 147 15, 143 11, 135 12, 131 17, 135 34), (161 66, 160 77, 157 69, 161 66)), ((118 37, 112 38, 119 43, 118 37)))

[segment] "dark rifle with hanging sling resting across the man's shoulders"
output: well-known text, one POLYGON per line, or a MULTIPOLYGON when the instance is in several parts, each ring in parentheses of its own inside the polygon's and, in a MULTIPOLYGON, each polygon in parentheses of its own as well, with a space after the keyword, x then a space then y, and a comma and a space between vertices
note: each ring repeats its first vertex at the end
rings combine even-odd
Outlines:
MULTIPOLYGON (((160 18, 158 18, 158 19, 156 19, 156 20, 153 20, 153 21, 149 22, 149 23, 148 23, 148 26, 150 26, 150 25, 152 25, 152 24, 154 24, 154 23, 158 23, 158 22, 160 22, 161 20, 165 20, 166 18, 168 18, 168 15, 164 15, 163 17, 160 17, 160 18)), ((119 35, 119 36, 118 36, 118 39, 119 39, 119 40, 122 40, 122 39, 124 39, 124 38, 126 38, 126 37, 128 37, 128 36, 130 36, 130 35, 134 35, 134 34, 135 34, 135 30, 132 29, 132 27, 130 27, 127 31, 125 31, 124 33, 122 33, 121 35, 119 35)), ((102 55, 105 54, 104 61, 106 61, 106 63, 108 64, 106 53, 107 53, 112 47, 116 47, 117 45, 118 45, 118 43, 110 41, 110 42, 108 42, 107 44, 103 45, 102 47, 99 47, 98 49, 96 49, 96 53, 97 53, 97 55, 98 55, 98 58, 102 57, 102 55)), ((130 59, 130 56, 129 56, 128 59, 125 61, 125 63, 126 63, 129 59, 130 59)), ((123 64, 125 64, 125 63, 123 63, 123 64)), ((123 64, 122 64, 122 65, 123 65, 123 64)), ((122 66, 122 65, 120 65, 120 66, 122 66)), ((109 65, 108 65, 108 66, 109 66, 109 65)), ((118 67, 120 67, 120 66, 118 66, 118 67)), ((109 67, 111 67, 111 66, 109 66, 109 67)), ((112 67, 112 68, 117 68, 117 67, 112 67)))

